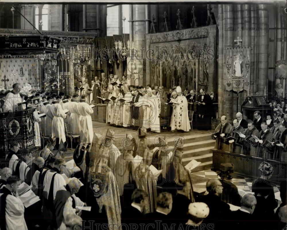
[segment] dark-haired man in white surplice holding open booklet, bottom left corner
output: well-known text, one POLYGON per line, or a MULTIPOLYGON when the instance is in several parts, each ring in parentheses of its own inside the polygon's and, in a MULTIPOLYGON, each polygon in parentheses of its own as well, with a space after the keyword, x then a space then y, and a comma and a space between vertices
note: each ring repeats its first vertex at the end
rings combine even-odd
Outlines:
POLYGON ((0 203, 5 205, 5 211, 0 216, 1 229, 28 230, 24 219, 25 208, 17 192, 19 185, 19 178, 10 176, 6 186, 0 190, 0 203))

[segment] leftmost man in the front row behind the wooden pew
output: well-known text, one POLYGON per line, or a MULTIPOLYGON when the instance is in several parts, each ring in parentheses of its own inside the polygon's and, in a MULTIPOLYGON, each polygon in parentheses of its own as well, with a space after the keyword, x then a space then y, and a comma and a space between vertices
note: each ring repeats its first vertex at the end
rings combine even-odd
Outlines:
POLYGON ((216 139, 215 141, 215 149, 219 149, 222 151, 228 151, 229 144, 225 143, 222 137, 228 137, 231 129, 231 125, 227 122, 227 117, 222 116, 220 119, 221 123, 215 128, 215 132, 218 132, 218 135, 212 135, 212 139, 216 139))

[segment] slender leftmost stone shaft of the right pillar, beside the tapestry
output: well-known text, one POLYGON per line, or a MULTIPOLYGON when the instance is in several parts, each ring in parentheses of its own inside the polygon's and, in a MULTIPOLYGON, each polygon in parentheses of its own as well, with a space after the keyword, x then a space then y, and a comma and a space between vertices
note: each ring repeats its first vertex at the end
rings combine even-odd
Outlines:
POLYGON ((223 24, 223 5, 218 5, 218 117, 223 115, 223 92, 225 86, 223 85, 224 65, 223 65, 223 51, 224 51, 224 24, 223 24))

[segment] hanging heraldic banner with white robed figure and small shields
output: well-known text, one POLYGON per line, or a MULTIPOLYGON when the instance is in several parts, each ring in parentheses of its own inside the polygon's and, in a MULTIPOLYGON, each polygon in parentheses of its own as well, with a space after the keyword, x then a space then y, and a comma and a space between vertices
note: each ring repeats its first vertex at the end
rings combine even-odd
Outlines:
POLYGON ((224 85, 227 91, 250 90, 250 51, 251 47, 224 49, 224 85))

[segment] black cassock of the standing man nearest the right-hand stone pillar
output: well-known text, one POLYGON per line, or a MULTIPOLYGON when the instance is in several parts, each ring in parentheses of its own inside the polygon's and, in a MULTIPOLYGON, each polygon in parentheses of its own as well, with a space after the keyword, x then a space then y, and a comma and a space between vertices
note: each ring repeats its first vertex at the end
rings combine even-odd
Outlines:
POLYGON ((205 105, 197 104, 197 125, 199 129, 211 129, 211 118, 214 116, 212 99, 208 94, 200 95, 198 101, 205 105))

